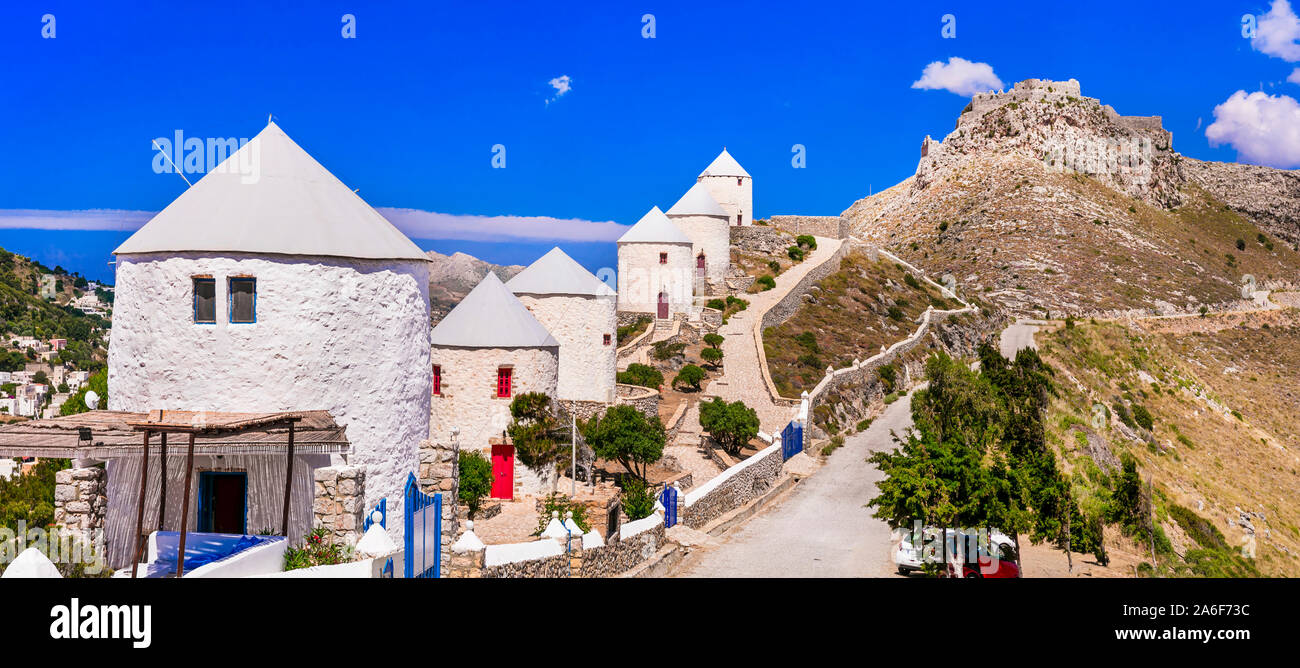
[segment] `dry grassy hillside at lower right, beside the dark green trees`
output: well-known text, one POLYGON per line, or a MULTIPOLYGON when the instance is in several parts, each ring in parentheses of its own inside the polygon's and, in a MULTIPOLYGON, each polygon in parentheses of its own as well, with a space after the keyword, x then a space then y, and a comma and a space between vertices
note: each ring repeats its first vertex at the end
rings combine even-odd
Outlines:
POLYGON ((1057 369, 1048 438, 1082 507, 1101 512, 1124 456, 1150 482, 1153 533, 1110 532, 1113 551, 1150 561, 1156 546, 1161 574, 1300 574, 1300 309, 1078 321, 1037 340, 1057 369))

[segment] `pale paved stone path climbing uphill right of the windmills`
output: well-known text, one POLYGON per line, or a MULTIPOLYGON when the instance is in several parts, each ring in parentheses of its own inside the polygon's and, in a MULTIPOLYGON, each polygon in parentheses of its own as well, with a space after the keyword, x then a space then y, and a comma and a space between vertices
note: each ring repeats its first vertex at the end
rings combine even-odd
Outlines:
MULTIPOLYGON (((776 287, 766 292, 744 295, 749 308, 727 318, 718 333, 723 340, 723 376, 708 386, 708 395, 722 396, 728 402, 745 402, 758 412, 763 431, 779 430, 790 421, 792 408, 772 403, 763 381, 759 365, 758 344, 754 340, 754 328, 760 326, 763 313, 776 305, 809 272, 826 263, 840 250, 840 239, 816 238, 816 250, 807 257, 776 277, 776 287)), ((707 396, 706 396, 707 399, 707 396)), ((689 416, 688 416, 689 417, 689 416)))

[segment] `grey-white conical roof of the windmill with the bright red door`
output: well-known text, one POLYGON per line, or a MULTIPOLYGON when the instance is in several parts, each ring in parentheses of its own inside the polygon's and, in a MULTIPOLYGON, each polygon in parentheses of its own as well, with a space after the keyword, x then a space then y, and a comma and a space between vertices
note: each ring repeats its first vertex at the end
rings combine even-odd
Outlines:
POLYGON ((559 346, 497 274, 488 276, 433 328, 434 346, 536 348, 559 346))

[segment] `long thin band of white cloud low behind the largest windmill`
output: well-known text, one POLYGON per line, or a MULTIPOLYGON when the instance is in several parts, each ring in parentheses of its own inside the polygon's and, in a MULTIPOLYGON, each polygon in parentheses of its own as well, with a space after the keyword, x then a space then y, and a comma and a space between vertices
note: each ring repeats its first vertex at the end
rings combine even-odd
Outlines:
MULTIPOLYGON (((413 239, 614 242, 628 231, 627 225, 618 222, 581 218, 468 216, 390 207, 376 211, 413 239)), ((135 231, 153 216, 148 211, 0 209, 0 229, 135 231)))

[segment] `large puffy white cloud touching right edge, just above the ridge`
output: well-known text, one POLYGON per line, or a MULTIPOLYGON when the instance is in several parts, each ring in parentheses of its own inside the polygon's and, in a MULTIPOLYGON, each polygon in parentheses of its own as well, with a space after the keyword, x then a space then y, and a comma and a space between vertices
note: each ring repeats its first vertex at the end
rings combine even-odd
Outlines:
POLYGON ((1210 146, 1228 144, 1247 162, 1300 166, 1300 103, 1286 95, 1236 91, 1214 108, 1210 146))

